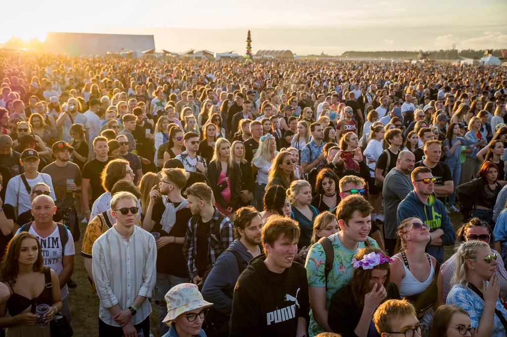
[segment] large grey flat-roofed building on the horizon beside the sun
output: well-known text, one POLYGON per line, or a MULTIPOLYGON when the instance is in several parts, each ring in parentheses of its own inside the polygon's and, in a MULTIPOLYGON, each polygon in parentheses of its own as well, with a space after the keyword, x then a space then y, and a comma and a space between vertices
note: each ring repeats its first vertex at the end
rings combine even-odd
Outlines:
POLYGON ((44 42, 46 52, 67 55, 105 55, 124 50, 142 51, 155 49, 153 35, 92 34, 48 32, 44 42))

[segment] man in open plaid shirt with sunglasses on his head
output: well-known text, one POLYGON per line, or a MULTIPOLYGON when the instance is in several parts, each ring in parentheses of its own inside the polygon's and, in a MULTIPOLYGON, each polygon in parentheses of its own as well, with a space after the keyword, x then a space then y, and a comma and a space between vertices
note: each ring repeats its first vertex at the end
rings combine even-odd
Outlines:
POLYGON ((208 185, 197 182, 187 190, 192 218, 188 222, 183 255, 190 280, 201 284, 204 272, 213 265, 233 241, 234 225, 211 204, 212 192, 208 185))

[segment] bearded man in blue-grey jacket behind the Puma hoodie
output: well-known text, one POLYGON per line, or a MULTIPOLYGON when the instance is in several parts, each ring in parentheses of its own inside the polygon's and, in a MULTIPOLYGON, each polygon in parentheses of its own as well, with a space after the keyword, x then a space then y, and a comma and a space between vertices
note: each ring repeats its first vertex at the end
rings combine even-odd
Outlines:
POLYGON ((262 224, 261 215, 252 206, 242 207, 234 215, 236 240, 216 259, 202 287, 204 299, 213 301, 212 315, 206 318, 212 330, 206 331, 208 335, 228 335, 234 286, 250 260, 261 254, 262 224))

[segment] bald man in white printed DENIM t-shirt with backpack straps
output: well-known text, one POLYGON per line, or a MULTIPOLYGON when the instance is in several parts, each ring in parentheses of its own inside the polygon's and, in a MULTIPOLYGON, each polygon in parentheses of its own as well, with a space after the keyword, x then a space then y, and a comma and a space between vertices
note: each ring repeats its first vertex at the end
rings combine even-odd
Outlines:
POLYGON ((63 224, 53 221, 55 212, 56 206, 51 197, 44 194, 35 197, 31 204, 33 222, 24 224, 16 234, 28 232, 39 238, 44 266, 54 270, 60 281, 61 313, 70 320, 67 282, 74 271, 74 240, 63 224))

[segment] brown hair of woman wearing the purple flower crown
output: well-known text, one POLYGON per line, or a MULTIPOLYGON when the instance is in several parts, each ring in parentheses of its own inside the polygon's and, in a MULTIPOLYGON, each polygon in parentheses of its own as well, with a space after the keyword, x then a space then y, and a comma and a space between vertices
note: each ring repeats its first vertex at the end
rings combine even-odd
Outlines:
MULTIPOLYGON (((359 249, 359 251, 355 254, 355 259, 357 261, 363 259, 363 256, 370 254, 371 252, 381 253, 382 255, 387 255, 382 250, 375 247, 365 247, 359 249)), ((350 279, 350 288, 352 290, 352 297, 354 298, 355 304, 359 306, 359 308, 363 308, 365 306, 365 294, 369 291, 368 283, 370 278, 372 277, 372 270, 387 270, 387 277, 384 282, 384 288, 387 288, 387 285, 390 282, 391 269, 389 263, 383 263, 373 267, 373 269, 363 269, 361 267, 354 268, 352 272, 352 278, 350 279)))

